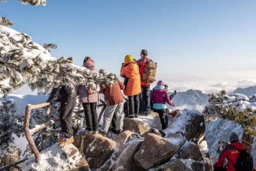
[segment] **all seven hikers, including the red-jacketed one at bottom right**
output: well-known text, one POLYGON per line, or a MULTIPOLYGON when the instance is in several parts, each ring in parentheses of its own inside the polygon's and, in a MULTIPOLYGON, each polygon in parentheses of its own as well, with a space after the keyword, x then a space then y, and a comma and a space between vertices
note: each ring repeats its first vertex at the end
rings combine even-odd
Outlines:
MULTIPOLYGON (((176 95, 176 91, 168 95, 168 85, 161 80, 150 90, 150 85, 155 81, 157 63, 148 58, 148 52, 145 49, 141 51, 140 57, 141 59, 136 61, 131 54, 125 56, 120 70, 120 76, 124 78, 123 83, 118 80, 115 85, 101 84, 97 87, 62 85, 52 89, 47 102, 53 103, 56 97, 60 101, 60 124, 63 136, 60 138, 59 147, 64 147, 74 141, 72 112, 77 96, 79 96, 79 102, 82 103, 84 109, 86 133, 100 133, 107 136, 112 124, 115 125, 115 129, 112 131, 120 134, 123 130, 123 113, 125 113, 125 117, 137 118, 138 115, 148 116, 154 111, 160 117, 162 130, 168 127, 167 114, 172 114, 173 118, 179 111, 168 112, 166 105, 167 103, 170 106, 175 106, 171 99, 176 95), (123 95, 122 90, 128 98, 123 95), (104 94, 106 108, 103 114, 102 128, 98 130, 97 102, 100 93, 104 94), (123 103, 124 98, 127 99, 125 103, 123 103)), ((92 72, 97 72, 95 62, 89 56, 85 57, 83 66, 92 72)), ((241 168, 240 164, 242 161, 244 162, 240 158, 242 155, 248 158, 245 146, 239 142, 236 133, 232 133, 230 142, 231 144, 224 148, 218 161, 214 164, 214 171, 247 171, 245 168, 241 168), (225 158, 227 158, 227 164, 224 167, 225 158)), ((248 167, 251 167, 248 163, 248 167)))

